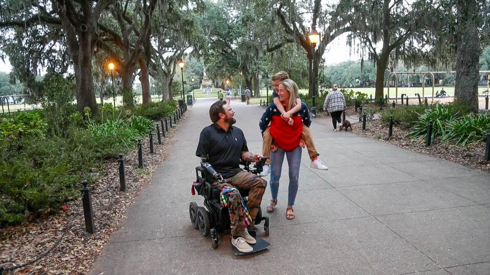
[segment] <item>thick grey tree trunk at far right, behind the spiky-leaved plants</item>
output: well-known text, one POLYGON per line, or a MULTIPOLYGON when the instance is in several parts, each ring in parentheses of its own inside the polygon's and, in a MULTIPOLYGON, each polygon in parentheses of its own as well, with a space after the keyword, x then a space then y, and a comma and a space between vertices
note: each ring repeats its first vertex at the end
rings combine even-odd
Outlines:
MULTIPOLYGON (((473 2, 474 4, 474 2, 473 2)), ((478 111, 478 80, 480 61, 480 38, 478 28, 469 16, 464 26, 456 51, 456 79, 454 96, 468 103, 473 112, 478 111)))

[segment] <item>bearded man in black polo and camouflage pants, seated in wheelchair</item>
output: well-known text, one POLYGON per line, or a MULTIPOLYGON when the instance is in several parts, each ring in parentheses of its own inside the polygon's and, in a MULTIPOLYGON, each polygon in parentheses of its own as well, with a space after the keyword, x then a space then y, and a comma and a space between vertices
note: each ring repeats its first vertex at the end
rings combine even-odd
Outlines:
POLYGON ((240 252, 250 252, 250 244, 254 244, 256 240, 248 231, 255 230, 254 221, 267 182, 239 167, 240 160, 258 162, 262 156, 249 152, 243 131, 232 126, 236 122, 234 114, 226 101, 219 100, 211 105, 209 117, 213 123, 201 131, 195 155, 209 163, 223 177, 223 181, 213 182, 212 185, 221 189, 222 194, 223 191, 228 191, 232 245, 240 252), (242 207, 240 194, 231 187, 249 190, 246 206, 242 207))

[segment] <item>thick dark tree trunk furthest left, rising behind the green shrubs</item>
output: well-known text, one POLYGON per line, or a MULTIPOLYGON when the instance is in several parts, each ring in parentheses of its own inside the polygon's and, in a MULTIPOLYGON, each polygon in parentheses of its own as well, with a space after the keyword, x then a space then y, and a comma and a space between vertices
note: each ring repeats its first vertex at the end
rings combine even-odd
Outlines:
MULTIPOLYGON (((90 27, 88 27, 90 28, 90 27)), ((80 112, 83 112, 84 107, 90 107, 91 113, 96 114, 97 102, 93 93, 92 79, 92 32, 79 32, 80 53, 79 53, 79 68, 77 72, 77 107, 80 112)))

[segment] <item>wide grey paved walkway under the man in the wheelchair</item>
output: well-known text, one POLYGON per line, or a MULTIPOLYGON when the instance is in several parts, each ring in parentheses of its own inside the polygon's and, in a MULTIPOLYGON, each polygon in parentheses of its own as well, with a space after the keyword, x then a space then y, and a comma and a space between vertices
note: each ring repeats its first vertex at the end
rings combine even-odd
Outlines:
MULTIPOLYGON (((269 214, 271 248, 235 256, 189 221, 194 156, 210 124, 211 99, 199 99, 176 135, 170 160, 128 208, 90 274, 488 274, 490 175, 350 132, 330 119, 311 126, 328 171, 312 170, 303 150, 296 218, 287 221, 287 173, 269 214), (233 266, 233 267, 231 267, 233 266), (233 271, 223 271, 231 268, 233 271)), ((252 152, 261 151, 263 109, 232 101, 252 152)), ((269 180, 269 178, 267 178, 269 180)), ((270 199, 267 189, 262 208, 270 199)), ((265 211, 264 211, 265 212, 265 211)))

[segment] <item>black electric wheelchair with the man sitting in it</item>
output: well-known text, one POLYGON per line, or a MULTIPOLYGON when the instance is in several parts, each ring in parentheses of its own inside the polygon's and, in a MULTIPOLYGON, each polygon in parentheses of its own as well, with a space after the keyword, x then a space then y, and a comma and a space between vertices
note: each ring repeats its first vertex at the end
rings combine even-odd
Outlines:
MULTIPOLYGON (((243 166, 243 170, 260 174, 262 172, 262 166, 267 158, 264 157, 254 164, 254 168, 250 168, 251 162, 240 162, 243 166)), ((195 168, 196 180, 192 183, 192 195, 197 192, 198 195, 204 197, 204 207, 199 207, 197 203, 191 202, 189 205, 190 222, 194 229, 199 229, 203 236, 211 235, 211 244, 215 249, 218 246, 218 234, 229 234, 230 232, 230 215, 228 207, 222 207, 220 202, 219 188, 212 187, 213 182, 224 182, 223 177, 217 173, 210 163, 201 162, 201 166, 195 168), (206 210, 207 209, 207 210, 206 210)), ((231 184, 230 184, 231 185, 231 184)), ((243 200, 247 201, 249 190, 242 190, 237 188, 240 192, 243 200)), ((255 218, 255 225, 259 225, 264 221, 265 236, 269 235, 269 218, 262 216, 262 209, 259 208, 257 216, 255 218)), ((254 236, 255 232, 249 232, 254 236)), ((255 236, 254 236, 255 237, 255 236)))

